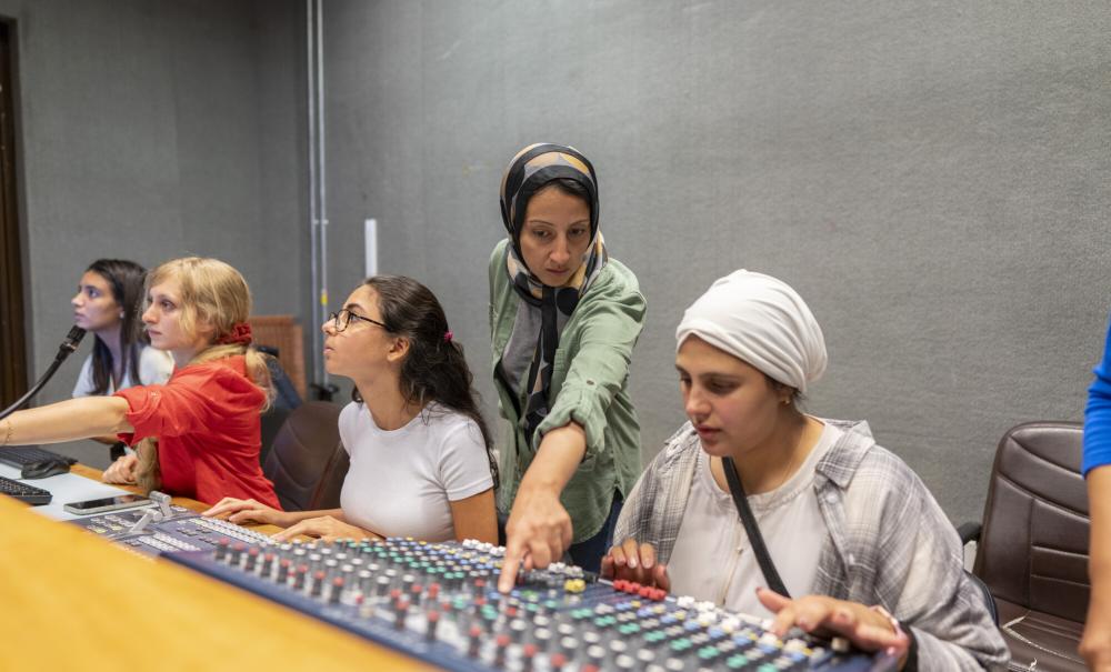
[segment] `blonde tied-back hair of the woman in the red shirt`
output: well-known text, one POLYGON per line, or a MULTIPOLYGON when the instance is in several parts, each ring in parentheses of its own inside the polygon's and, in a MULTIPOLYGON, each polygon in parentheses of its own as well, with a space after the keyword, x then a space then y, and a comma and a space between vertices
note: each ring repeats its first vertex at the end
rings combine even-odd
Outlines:
POLYGON ((241 343, 218 343, 222 337, 233 333, 236 324, 247 322, 251 314, 251 290, 247 280, 231 265, 219 259, 183 257, 172 259, 147 274, 147 292, 156 284, 176 280, 181 295, 180 324, 186 335, 197 335, 197 323, 212 325, 212 340, 190 361, 190 364, 210 362, 226 357, 242 354, 247 360, 247 374, 267 395, 262 409, 270 407, 274 397, 270 369, 266 355, 250 345, 241 343))

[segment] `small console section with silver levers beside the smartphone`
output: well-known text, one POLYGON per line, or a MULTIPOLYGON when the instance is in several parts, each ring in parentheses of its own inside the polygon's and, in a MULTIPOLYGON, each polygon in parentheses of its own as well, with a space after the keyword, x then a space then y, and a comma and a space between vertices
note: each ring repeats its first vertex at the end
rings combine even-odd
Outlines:
POLYGON ((159 492, 152 492, 151 500, 156 502, 154 505, 90 515, 73 522, 146 555, 213 551, 221 543, 232 542, 256 545, 272 543, 266 534, 224 520, 203 518, 188 509, 170 504, 170 498, 159 492))

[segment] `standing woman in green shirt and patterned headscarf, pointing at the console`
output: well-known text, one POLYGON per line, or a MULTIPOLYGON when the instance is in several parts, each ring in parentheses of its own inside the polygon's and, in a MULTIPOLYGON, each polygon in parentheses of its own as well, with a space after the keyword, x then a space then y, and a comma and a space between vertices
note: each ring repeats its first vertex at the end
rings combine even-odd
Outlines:
POLYGON ((490 332, 501 414, 499 509, 509 511, 504 569, 569 552, 597 571, 621 501, 640 474, 629 361, 644 322, 637 277, 610 259, 598 228, 598 181, 577 150, 532 144, 506 169, 509 237, 490 257, 490 332))

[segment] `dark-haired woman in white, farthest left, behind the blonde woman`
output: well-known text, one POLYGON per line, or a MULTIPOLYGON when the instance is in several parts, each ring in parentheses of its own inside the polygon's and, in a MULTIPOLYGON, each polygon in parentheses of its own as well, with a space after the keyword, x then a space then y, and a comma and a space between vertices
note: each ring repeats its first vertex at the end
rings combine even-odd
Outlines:
MULTIPOLYGON (((150 347, 142 329, 143 279, 147 269, 126 259, 98 259, 89 264, 73 305, 73 324, 92 333, 92 354, 81 365, 73 397, 104 397, 134 385, 164 383, 173 373, 169 352, 150 347)), ((94 437, 119 445, 116 437, 94 437)))

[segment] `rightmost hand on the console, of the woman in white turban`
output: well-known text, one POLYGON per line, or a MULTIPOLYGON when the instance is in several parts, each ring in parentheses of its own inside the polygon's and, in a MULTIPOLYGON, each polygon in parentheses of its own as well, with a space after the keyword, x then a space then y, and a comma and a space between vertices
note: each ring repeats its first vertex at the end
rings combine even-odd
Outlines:
POLYGON ((792 626, 819 636, 843 636, 863 651, 887 650, 900 659, 900 666, 910 648, 905 633, 895 633, 885 615, 859 602, 825 595, 791 600, 767 588, 758 588, 757 598, 775 613, 770 630, 778 636, 787 634, 792 626))

